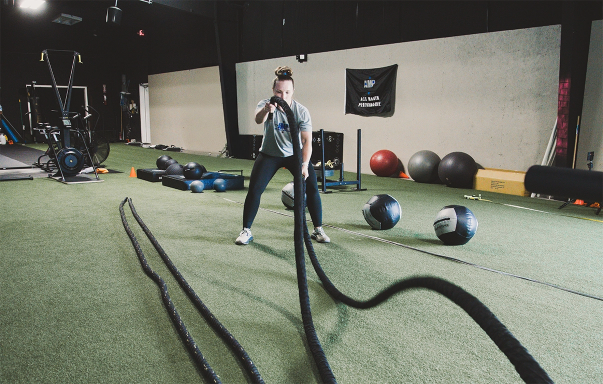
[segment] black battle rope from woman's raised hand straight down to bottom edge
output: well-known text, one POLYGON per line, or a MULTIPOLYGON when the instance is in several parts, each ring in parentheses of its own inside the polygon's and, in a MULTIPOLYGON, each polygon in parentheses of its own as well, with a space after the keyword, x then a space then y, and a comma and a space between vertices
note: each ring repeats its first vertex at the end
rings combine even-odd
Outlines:
POLYGON ((294 199, 293 209, 295 210, 295 230, 294 230, 294 241, 295 241, 295 265, 297 266, 297 288, 299 290, 300 297, 300 309, 301 309, 301 321, 303 322, 303 329, 306 333, 306 339, 308 340, 308 347, 314 357, 314 362, 318 368, 320 379, 323 383, 336 383, 335 375, 329 366, 327 357, 324 354, 323 347, 320 345, 316 330, 314 329, 314 322, 312 321, 312 311, 310 308, 310 296, 308 294, 308 276, 306 275, 306 254, 303 249, 304 234, 302 231, 306 231, 308 234, 308 228, 304 226, 306 222, 306 181, 301 177, 301 150, 300 150, 300 130, 297 127, 297 121, 293 111, 289 107, 289 104, 282 98, 272 96, 270 99, 271 104, 279 105, 285 114, 287 115, 287 122, 289 123, 289 133, 291 134, 291 140, 293 142, 293 154, 298 160, 295 162, 295 172, 293 178, 293 194, 294 196, 301 196, 303 198, 294 199))

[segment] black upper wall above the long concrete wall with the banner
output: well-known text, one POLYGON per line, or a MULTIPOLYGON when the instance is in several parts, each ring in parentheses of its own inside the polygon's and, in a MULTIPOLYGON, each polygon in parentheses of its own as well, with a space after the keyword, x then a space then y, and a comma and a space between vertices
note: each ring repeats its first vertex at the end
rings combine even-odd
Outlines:
POLYGON ((248 1, 241 60, 555 25, 562 14, 562 1, 248 1))

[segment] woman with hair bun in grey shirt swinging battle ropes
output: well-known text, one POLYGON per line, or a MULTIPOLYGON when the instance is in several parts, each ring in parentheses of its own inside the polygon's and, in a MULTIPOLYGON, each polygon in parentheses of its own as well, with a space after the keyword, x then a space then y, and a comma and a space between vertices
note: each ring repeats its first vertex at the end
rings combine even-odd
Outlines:
MULTIPOLYGON (((301 175, 306 180, 306 204, 314 231, 311 238, 320 242, 330 242, 329 236, 324 234, 323 230, 323 208, 318 193, 318 183, 314 167, 310 165, 312 156, 312 121, 308 109, 293 100, 293 71, 288 66, 277 68, 274 73, 272 91, 274 95, 279 96, 289 105, 300 130, 301 141, 301 175)), ((293 143, 291 133, 289 133, 289 124, 285 112, 274 104, 270 104, 270 99, 264 99, 257 104, 255 112, 255 121, 257 124, 264 124, 264 139, 260 147, 256 162, 251 170, 249 180, 249 190, 245 198, 245 207, 243 208, 243 230, 236 238, 235 243, 239 245, 249 244, 253 240, 251 236, 251 224, 256 217, 257 209, 260 206, 260 198, 266 189, 268 182, 273 178, 276 171, 285 167, 294 175, 297 167, 295 157, 293 156, 293 143)))

